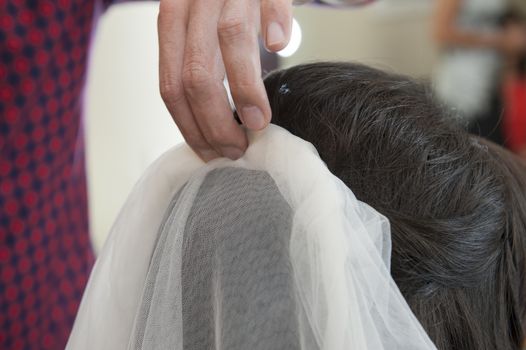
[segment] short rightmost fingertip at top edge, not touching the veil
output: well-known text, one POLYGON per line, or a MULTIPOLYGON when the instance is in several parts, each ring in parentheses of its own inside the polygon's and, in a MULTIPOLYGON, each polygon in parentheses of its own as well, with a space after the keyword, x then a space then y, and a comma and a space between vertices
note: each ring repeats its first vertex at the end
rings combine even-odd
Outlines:
POLYGON ((261 0, 261 28, 269 51, 284 49, 292 31, 292 1, 261 0))

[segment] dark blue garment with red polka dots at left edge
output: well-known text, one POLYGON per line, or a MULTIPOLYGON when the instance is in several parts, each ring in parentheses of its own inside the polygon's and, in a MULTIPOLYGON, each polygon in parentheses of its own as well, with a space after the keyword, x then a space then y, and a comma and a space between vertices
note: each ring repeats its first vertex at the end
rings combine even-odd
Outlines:
POLYGON ((0 349, 63 349, 93 263, 80 107, 97 5, 0 1, 0 349))

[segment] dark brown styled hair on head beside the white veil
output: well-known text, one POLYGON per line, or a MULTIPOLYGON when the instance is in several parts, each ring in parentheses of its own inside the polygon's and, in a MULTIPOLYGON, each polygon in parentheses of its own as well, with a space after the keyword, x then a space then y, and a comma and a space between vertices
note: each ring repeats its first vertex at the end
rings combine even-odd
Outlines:
POLYGON ((470 136, 425 84, 315 63, 265 79, 273 123, 311 142, 387 216, 391 273, 439 349, 517 349, 526 316, 526 167, 470 136))

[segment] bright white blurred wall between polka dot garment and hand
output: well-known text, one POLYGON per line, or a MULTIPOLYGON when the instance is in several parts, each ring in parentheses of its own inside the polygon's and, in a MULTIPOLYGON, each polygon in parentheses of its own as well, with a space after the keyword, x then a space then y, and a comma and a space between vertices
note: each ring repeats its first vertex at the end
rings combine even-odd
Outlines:
POLYGON ((182 140, 159 95, 154 2, 100 20, 86 91, 90 224, 99 248, 145 168, 182 140))

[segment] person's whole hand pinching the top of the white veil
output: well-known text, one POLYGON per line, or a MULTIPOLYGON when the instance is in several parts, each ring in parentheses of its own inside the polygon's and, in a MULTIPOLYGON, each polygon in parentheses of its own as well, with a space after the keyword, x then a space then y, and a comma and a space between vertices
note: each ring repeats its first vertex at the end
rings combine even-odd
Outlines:
POLYGON ((271 119, 259 60, 261 26, 269 51, 290 37, 291 0, 161 0, 158 18, 161 96, 186 142, 205 161, 241 157, 245 131, 271 119))

